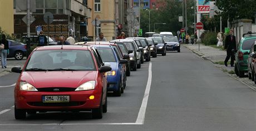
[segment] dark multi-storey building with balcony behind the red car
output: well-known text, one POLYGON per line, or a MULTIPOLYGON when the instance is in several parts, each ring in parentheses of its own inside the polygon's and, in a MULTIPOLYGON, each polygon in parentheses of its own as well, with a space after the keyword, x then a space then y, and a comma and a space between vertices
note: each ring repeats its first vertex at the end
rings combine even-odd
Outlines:
MULTIPOLYGON (((17 38, 27 34, 27 25, 22 20, 27 13, 20 11, 19 8, 24 6, 21 2, 21 0, 14 0, 14 34, 17 38)), ((35 2, 36 6, 35 11, 32 12, 35 21, 30 26, 31 35, 38 35, 40 30, 37 27, 41 27, 45 34, 49 33, 56 39, 61 35, 67 38, 69 34, 72 34, 77 41, 80 41, 82 36, 87 35, 87 18, 92 14, 91 9, 87 7, 87 1, 34 0, 32 2, 35 2), (49 28, 43 18, 46 12, 53 14, 53 21, 49 28)))

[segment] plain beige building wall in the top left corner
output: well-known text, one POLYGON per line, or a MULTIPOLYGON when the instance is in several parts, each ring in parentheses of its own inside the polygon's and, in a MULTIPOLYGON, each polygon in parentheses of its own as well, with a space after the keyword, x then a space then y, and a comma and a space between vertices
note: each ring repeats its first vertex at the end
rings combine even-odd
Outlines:
POLYGON ((14 33, 13 28, 13 1, 1 0, 0 1, 0 27, 9 35, 14 33))

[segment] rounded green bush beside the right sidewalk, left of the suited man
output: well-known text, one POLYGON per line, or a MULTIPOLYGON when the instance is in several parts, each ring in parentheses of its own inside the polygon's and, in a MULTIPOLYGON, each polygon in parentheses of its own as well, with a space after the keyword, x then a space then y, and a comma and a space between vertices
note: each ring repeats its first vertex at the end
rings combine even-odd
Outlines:
POLYGON ((214 32, 204 32, 201 35, 201 41, 205 45, 216 45, 218 43, 217 33, 214 33, 214 32))

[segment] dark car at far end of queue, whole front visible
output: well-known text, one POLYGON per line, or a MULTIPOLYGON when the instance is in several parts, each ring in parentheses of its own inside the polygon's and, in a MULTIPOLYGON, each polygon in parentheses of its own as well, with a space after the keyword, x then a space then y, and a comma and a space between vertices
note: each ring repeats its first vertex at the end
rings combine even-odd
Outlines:
POLYGON ((180 43, 176 36, 164 36, 163 39, 166 43, 167 51, 178 51, 180 53, 180 43))

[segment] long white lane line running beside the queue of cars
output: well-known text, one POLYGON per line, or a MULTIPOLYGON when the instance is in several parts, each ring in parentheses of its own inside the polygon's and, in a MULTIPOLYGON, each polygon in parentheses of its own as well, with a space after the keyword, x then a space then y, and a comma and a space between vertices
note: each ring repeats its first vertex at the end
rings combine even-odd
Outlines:
POLYGON ((151 79, 152 79, 152 63, 149 63, 149 77, 147 78, 147 86, 146 90, 144 93, 144 97, 141 103, 140 111, 138 114, 138 117, 136 119, 137 124, 144 124, 145 121, 145 113, 146 113, 146 108, 147 108, 147 99, 149 99, 149 91, 150 91, 150 86, 151 86, 151 79))

